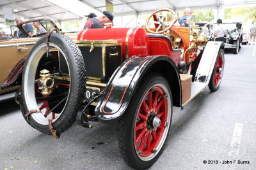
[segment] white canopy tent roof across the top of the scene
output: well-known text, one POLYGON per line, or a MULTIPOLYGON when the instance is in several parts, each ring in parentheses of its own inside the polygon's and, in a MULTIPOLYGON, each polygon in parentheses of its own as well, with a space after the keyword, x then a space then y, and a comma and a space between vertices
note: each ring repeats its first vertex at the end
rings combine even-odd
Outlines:
MULTIPOLYGON (((175 11, 184 10, 189 7, 193 10, 216 9, 218 17, 223 13, 223 9, 238 6, 256 5, 253 0, 113 0, 114 14, 117 18, 122 16, 122 20, 129 22, 124 16, 130 15, 133 18, 143 13, 151 13, 161 8, 171 8, 175 11)), ((58 22, 67 20, 80 20, 90 12, 97 15, 106 10, 105 0, 1 0, 0 1, 0 23, 5 23, 3 7, 9 7, 17 12, 13 13, 13 19, 17 15, 27 19, 51 18, 58 22)), ((125 25, 125 24, 122 24, 125 25)), ((127 24, 126 24, 127 25, 127 24)))

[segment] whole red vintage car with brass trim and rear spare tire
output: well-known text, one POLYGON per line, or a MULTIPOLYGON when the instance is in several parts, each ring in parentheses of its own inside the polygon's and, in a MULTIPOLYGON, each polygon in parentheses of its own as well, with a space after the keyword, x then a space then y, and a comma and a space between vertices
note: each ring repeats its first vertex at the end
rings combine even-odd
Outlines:
POLYGON ((48 31, 22 63, 22 81, 12 82, 22 85, 16 101, 25 120, 56 138, 76 120, 88 128, 90 121, 119 122, 127 165, 154 164, 173 106, 184 107, 207 86, 218 90, 223 76, 223 43, 207 42, 196 26, 173 26, 176 20, 172 10, 157 10, 146 29, 109 24, 79 32, 76 41, 48 31))

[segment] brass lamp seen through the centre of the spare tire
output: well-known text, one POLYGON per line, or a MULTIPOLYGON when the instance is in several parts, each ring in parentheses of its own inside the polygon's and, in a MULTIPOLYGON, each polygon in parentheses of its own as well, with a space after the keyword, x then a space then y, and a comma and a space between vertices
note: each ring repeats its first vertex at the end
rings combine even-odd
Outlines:
POLYGON ((41 84, 42 84, 42 95, 48 95, 48 94, 51 94, 52 92, 52 87, 54 85, 54 79, 51 78, 51 74, 50 74, 50 71, 47 70, 47 69, 43 69, 40 71, 40 81, 41 81, 41 84))

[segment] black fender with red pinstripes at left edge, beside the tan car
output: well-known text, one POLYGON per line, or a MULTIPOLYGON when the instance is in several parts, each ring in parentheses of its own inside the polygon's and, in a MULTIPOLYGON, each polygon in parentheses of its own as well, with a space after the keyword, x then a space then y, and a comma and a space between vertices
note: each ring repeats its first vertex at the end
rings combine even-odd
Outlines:
POLYGON ((15 85, 21 85, 22 71, 25 66, 27 56, 19 60, 19 62, 13 67, 7 78, 0 84, 2 90, 14 87, 15 85))

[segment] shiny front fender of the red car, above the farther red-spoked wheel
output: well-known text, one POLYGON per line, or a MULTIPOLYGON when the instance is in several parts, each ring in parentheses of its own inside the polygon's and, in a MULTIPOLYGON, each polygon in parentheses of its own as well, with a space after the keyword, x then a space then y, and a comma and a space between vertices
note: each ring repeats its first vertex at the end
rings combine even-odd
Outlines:
POLYGON ((209 41, 205 46, 202 59, 198 65, 195 74, 195 81, 209 84, 212 70, 217 59, 218 52, 224 48, 224 43, 221 41, 209 41))

